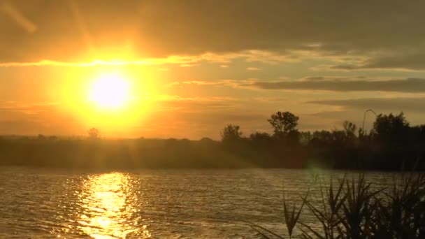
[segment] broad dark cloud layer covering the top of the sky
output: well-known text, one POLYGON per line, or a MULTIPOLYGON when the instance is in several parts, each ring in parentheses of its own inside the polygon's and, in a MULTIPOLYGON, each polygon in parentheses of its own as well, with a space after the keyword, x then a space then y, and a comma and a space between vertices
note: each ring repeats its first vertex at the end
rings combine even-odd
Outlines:
POLYGON ((421 50, 425 39, 424 1, 8 2, 20 17, 0 11, 3 62, 71 61, 127 45, 137 57, 294 49, 368 54, 421 50))

